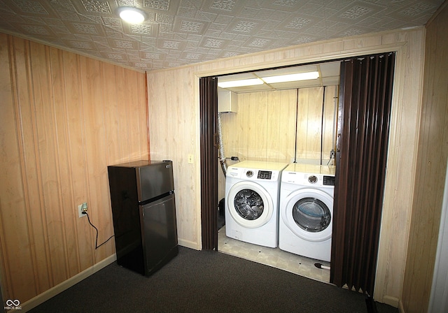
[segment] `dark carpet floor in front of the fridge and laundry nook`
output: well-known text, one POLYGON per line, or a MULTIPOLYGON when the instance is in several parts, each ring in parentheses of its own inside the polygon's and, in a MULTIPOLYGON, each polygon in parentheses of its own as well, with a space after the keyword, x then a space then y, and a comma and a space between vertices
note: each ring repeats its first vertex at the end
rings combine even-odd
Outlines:
MULTIPOLYGON (((398 309, 376 303, 379 313, 398 309)), ((38 312, 367 312, 365 296, 220 252, 179 247, 151 277, 112 263, 38 312)))

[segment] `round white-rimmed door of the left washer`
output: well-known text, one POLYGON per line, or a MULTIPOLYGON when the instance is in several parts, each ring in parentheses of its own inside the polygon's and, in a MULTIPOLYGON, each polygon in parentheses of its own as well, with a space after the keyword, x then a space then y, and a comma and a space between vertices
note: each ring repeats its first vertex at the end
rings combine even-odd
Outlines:
POLYGON ((254 182, 237 182, 225 199, 232 218, 246 228, 266 224, 274 212, 272 198, 265 188, 254 182))

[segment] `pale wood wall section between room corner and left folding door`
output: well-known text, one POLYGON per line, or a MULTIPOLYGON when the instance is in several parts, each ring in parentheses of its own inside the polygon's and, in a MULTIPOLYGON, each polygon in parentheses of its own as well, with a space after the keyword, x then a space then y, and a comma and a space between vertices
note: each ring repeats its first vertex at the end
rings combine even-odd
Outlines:
POLYGON ((199 94, 199 80, 196 85, 188 66, 164 73, 148 73, 151 159, 173 160, 179 245, 201 249, 200 103, 191 99, 199 94))

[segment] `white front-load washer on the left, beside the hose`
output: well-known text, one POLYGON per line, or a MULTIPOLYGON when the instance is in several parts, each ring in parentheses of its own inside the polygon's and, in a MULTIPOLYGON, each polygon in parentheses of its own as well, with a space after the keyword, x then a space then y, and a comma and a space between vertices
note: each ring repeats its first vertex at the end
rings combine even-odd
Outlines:
POLYGON ((281 171, 288 163, 241 161, 225 179, 225 235, 255 245, 278 246, 281 171))

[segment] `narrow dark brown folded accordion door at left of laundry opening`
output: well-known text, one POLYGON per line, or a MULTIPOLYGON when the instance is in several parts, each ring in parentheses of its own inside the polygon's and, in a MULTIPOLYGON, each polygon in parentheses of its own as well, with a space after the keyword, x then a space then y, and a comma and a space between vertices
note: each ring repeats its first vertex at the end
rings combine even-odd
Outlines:
POLYGON ((200 78, 202 249, 218 250, 218 79, 200 78))

